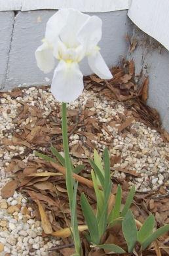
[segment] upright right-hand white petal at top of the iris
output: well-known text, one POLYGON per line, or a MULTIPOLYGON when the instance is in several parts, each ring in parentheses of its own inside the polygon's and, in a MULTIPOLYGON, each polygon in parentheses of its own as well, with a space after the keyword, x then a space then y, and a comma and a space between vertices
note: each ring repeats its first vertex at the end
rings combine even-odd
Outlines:
POLYGON ((97 16, 91 16, 77 35, 79 42, 89 54, 96 47, 102 37, 102 20, 97 16))

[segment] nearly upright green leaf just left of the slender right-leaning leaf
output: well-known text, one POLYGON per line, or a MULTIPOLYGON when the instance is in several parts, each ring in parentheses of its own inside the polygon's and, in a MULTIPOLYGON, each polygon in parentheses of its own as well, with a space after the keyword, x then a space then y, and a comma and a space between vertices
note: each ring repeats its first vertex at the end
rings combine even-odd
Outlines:
POLYGON ((113 209, 111 210, 111 213, 109 214, 109 224, 113 223, 115 219, 120 217, 121 198, 122 198, 122 189, 121 189, 121 186, 118 185, 117 194, 115 197, 115 206, 113 207, 113 209))

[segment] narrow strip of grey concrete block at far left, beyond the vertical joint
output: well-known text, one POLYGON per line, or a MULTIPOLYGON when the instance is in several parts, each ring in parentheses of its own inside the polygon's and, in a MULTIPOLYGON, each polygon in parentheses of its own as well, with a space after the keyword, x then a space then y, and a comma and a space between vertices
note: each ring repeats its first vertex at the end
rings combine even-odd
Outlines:
POLYGON ((0 89, 5 86, 14 12, 0 12, 0 89))

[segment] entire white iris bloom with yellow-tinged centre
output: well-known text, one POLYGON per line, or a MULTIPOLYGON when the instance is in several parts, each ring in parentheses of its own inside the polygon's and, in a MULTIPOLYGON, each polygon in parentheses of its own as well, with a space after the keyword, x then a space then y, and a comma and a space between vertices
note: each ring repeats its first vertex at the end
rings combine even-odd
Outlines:
POLYGON ((35 51, 37 66, 44 72, 54 70, 51 92, 60 102, 71 102, 83 92, 83 74, 79 62, 87 56, 92 71, 102 79, 112 75, 105 64, 98 42, 102 20, 73 9, 61 9, 47 22, 43 45, 35 51))

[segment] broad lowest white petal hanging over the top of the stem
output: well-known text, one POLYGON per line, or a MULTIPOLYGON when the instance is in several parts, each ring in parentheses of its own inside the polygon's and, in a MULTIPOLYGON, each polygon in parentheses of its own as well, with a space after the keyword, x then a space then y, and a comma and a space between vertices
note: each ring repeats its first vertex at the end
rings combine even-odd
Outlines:
POLYGON ((51 92, 60 102, 72 102, 83 92, 83 74, 75 62, 61 60, 54 71, 51 92))

